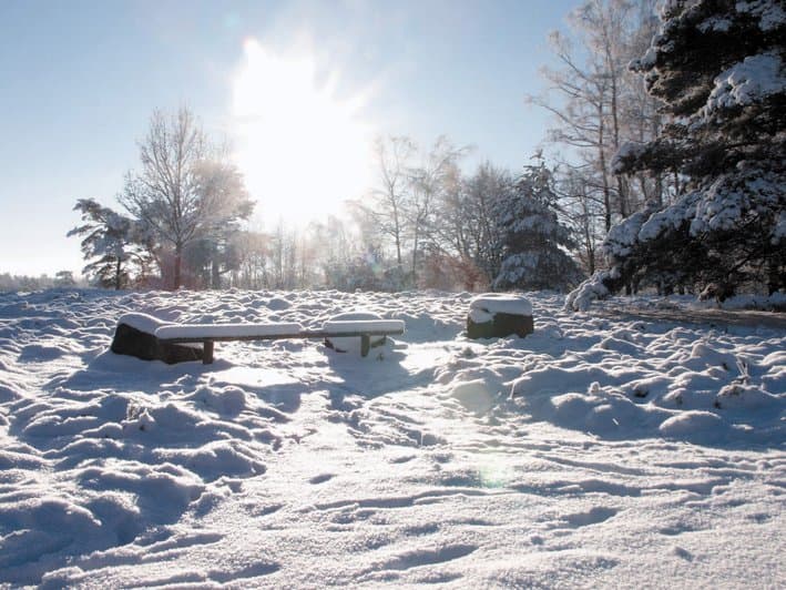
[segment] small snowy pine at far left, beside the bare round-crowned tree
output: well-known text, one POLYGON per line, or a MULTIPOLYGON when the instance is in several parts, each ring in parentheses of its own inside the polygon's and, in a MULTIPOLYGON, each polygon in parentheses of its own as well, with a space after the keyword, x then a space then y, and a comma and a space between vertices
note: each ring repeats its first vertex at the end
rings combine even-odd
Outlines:
POLYGON ((130 217, 92 199, 80 199, 74 211, 81 213, 83 224, 71 230, 68 236, 83 236, 82 255, 90 262, 82 273, 102 287, 127 287, 131 267, 144 268, 149 263, 149 255, 141 246, 144 243, 142 228, 130 217))

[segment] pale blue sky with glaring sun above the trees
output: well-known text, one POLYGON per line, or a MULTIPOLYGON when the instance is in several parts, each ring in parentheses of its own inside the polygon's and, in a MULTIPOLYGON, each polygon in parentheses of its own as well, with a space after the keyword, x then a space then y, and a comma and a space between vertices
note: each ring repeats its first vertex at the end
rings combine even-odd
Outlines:
POLYGON ((374 184, 376 136, 518 170, 575 0, 0 2, 0 273, 79 274, 78 199, 119 207, 154 110, 231 145, 269 228, 374 184))

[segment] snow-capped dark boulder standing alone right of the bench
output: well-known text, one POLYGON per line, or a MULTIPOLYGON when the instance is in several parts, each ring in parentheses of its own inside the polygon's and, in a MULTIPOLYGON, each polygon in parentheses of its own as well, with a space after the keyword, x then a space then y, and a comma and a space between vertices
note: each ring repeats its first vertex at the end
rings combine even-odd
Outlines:
POLYGON ((513 334, 524 337, 533 330, 532 304, 525 297, 492 293, 470 302, 467 316, 469 338, 502 338, 513 334))

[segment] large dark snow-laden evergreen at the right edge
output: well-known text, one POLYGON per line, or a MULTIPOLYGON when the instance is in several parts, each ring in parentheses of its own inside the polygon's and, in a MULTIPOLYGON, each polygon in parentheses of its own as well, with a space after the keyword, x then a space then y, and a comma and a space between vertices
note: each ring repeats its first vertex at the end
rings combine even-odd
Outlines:
POLYGON ((683 190, 610 234, 606 287, 688 284, 721 298, 745 282, 784 288, 784 2, 668 1, 633 68, 671 119, 654 141, 623 145, 615 170, 671 172, 683 190))

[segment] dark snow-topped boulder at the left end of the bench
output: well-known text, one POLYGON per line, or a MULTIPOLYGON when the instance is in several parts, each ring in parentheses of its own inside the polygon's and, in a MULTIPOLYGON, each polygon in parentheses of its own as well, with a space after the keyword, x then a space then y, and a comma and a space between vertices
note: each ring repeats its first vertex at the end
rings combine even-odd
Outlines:
POLYGON ((166 323, 145 314, 126 314, 118 321, 111 350, 116 355, 135 356, 143 360, 163 360, 167 365, 202 360, 202 346, 163 343, 154 336, 155 328, 166 323))

